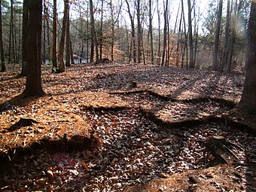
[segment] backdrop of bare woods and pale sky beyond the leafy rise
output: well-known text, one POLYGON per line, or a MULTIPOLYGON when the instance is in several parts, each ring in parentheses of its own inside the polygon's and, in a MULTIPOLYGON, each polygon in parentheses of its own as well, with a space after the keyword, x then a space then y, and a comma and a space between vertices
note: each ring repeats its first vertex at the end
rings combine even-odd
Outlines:
MULTIPOLYGON (((52 72, 75 62, 141 62, 159 66, 241 71, 251 1, 44 0, 41 61, 52 72)), ((18 0, 0 0, 1 71, 26 62, 26 10, 18 0), (23 30, 22 30, 23 29, 23 30)), ((26 0, 24 1, 26 3, 26 0)))

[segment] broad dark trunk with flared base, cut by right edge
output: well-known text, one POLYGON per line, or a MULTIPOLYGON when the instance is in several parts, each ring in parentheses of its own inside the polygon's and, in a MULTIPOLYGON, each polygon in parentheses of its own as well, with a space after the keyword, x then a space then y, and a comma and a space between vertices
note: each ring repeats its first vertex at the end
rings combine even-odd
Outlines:
POLYGON ((251 2, 251 14, 248 23, 248 53, 245 87, 238 108, 256 114, 256 4, 251 2))

